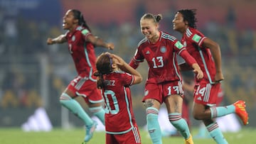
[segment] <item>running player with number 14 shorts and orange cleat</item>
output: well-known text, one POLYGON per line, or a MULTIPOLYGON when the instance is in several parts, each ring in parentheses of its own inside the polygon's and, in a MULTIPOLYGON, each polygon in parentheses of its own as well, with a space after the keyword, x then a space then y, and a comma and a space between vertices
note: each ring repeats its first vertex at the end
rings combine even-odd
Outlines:
MULTIPOLYGON (((196 79, 193 117, 203 121, 216 143, 228 143, 213 118, 236 113, 246 125, 248 114, 245 110, 245 101, 237 101, 229 106, 216 106, 220 81, 224 79, 221 70, 220 46, 196 29, 195 15, 196 9, 183 9, 176 13, 173 20, 174 30, 183 35, 181 43, 203 70, 203 79, 196 79)), ((188 70, 190 67, 184 63, 180 68, 188 70)))

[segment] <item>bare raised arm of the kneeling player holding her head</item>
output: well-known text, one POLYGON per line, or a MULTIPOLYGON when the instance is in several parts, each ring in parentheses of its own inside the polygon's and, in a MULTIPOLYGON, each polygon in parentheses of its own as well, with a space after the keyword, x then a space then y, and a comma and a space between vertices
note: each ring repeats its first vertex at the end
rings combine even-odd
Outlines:
POLYGON ((133 84, 139 84, 140 82, 142 82, 142 74, 140 74, 139 72, 137 72, 137 70, 135 70, 130 65, 128 65, 127 62, 124 62, 124 60, 122 60, 121 57, 114 55, 114 54, 112 54, 112 57, 114 57, 118 60, 117 65, 119 66, 119 68, 122 71, 134 75, 134 83, 133 84))

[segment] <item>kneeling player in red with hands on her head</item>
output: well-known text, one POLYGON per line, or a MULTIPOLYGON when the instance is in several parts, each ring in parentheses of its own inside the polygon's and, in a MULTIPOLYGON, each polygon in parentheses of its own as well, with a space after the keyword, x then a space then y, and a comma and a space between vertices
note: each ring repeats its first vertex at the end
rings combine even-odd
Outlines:
POLYGON ((141 143, 129 86, 142 82, 142 75, 108 52, 97 58, 96 67, 97 87, 105 99, 106 144, 141 143))

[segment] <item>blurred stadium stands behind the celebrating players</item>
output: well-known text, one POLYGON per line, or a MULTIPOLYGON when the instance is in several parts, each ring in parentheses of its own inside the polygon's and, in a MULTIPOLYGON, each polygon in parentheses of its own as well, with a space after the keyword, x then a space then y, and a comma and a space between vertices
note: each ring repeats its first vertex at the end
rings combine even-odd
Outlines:
MULTIPOLYGON (((218 42, 222 50, 223 104, 245 100, 249 127, 255 127, 255 6, 254 0, 0 0, 0 128, 20 127, 39 107, 46 109, 54 127, 82 126, 58 101, 60 92, 76 75, 67 45, 46 45, 48 37, 65 32, 62 18, 68 9, 82 11, 92 33, 113 42, 112 52, 127 62, 143 37, 139 19, 144 13, 161 13, 161 30, 180 39, 181 35, 172 30, 175 12, 198 9, 198 29, 218 42)), ((98 55, 103 50, 96 48, 96 52, 98 55)), ((145 64, 139 72, 146 79, 145 64)), ((139 126, 146 123, 143 91, 143 83, 132 87, 139 126)), ((193 121, 193 126, 197 125, 193 121)))

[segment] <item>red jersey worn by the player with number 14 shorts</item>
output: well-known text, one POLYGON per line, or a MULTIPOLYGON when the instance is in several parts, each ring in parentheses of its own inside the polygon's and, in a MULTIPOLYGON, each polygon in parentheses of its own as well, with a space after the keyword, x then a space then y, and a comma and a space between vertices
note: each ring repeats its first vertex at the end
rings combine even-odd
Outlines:
POLYGON ((210 53, 210 49, 202 46, 203 40, 205 39, 205 35, 195 28, 187 28, 181 43, 186 47, 188 53, 195 58, 196 62, 198 62, 198 65, 203 71, 203 79, 208 80, 210 84, 212 84, 216 73, 215 62, 210 53))

